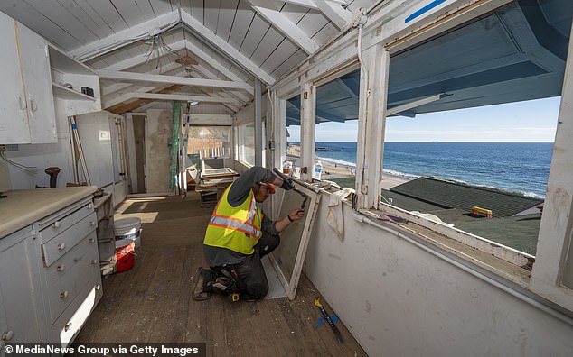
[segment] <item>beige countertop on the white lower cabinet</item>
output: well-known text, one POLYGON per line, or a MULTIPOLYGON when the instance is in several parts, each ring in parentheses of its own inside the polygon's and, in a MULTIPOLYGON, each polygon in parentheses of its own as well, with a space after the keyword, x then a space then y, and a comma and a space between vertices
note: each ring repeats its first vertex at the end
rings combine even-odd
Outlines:
POLYGON ((93 195, 96 186, 36 188, 5 192, 0 198, 0 238, 93 195))

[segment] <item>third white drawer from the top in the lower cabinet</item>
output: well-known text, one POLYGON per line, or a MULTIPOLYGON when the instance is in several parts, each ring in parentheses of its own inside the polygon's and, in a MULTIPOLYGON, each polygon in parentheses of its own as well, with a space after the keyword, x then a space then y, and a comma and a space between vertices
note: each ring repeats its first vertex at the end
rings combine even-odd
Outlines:
POLYGON ((54 261, 51 266, 43 268, 48 287, 52 287, 58 279, 67 279, 68 273, 86 259, 89 259, 92 264, 99 264, 98 259, 93 258, 94 255, 97 257, 97 243, 91 238, 93 238, 93 235, 90 234, 76 244, 75 247, 71 248, 70 252, 65 253, 59 260, 54 261))

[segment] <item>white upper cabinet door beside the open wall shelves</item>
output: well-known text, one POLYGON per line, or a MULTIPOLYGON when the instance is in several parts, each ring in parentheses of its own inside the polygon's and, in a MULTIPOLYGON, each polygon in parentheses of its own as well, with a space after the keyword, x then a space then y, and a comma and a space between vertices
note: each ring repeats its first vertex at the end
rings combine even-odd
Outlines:
POLYGON ((18 37, 31 142, 58 142, 48 41, 22 23, 18 37))

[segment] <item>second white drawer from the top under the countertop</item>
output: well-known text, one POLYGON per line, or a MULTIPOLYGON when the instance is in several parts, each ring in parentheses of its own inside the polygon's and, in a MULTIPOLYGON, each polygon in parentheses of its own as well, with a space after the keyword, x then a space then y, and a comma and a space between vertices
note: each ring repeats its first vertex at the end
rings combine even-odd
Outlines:
MULTIPOLYGON (((60 259, 63 254, 69 252, 71 248, 89 233, 96 230, 96 214, 91 211, 91 214, 84 217, 77 224, 73 224, 67 230, 56 235, 48 243, 42 244, 43 261, 46 267, 52 265, 54 261, 60 259)), ((89 239, 96 241, 96 235, 91 234, 89 239)))

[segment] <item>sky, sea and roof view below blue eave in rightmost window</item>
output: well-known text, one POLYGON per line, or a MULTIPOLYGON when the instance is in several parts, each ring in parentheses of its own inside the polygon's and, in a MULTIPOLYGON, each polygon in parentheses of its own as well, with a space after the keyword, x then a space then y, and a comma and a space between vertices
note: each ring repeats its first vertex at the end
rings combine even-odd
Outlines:
POLYGON ((559 98, 390 117, 383 202, 535 255, 559 98))

